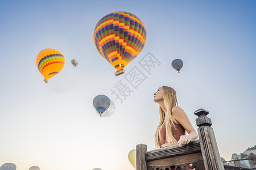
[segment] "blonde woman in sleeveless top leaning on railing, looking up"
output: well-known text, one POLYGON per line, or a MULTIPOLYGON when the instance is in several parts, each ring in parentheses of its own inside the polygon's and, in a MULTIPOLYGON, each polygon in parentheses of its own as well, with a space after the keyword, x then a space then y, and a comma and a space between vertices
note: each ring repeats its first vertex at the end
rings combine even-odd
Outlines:
POLYGON ((160 114, 155 132, 155 148, 176 144, 183 146, 197 139, 197 132, 188 120, 187 114, 177 106, 176 92, 173 88, 167 86, 158 88, 154 93, 154 101, 159 104, 160 114), (185 135, 185 131, 188 135, 185 135))

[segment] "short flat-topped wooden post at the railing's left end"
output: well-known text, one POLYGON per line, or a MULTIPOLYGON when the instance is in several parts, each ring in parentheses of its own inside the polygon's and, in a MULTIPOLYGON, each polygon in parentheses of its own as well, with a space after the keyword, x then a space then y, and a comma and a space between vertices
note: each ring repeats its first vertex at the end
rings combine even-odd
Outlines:
POLYGON ((136 146, 136 169, 147 170, 147 163, 145 160, 145 152, 147 151, 147 145, 139 144, 136 146))

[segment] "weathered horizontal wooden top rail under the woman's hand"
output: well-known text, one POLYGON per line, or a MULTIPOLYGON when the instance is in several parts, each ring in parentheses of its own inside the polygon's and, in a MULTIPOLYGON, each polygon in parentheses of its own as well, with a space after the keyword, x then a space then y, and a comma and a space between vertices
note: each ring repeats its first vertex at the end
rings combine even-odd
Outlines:
POLYGON ((195 152, 201 152, 200 142, 199 140, 192 141, 188 145, 185 146, 168 146, 164 148, 159 148, 157 150, 147 151, 145 152, 145 160, 151 161, 156 159, 169 158, 172 156, 186 155, 195 152))

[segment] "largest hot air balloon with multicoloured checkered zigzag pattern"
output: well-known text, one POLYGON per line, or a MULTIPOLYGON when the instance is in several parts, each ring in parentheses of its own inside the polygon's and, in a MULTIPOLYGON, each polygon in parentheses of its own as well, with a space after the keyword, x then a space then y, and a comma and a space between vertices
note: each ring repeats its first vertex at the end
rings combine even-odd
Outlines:
POLYGON ((94 42, 102 57, 117 69, 115 75, 119 75, 125 73, 123 68, 143 49, 146 29, 137 16, 112 12, 97 23, 94 42))

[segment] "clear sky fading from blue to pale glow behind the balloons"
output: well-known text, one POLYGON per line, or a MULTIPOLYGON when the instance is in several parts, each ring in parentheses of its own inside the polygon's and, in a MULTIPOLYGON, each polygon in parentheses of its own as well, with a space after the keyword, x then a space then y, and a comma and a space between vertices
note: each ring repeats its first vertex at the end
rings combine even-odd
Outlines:
POLYGON ((255 7, 255 1, 0 1, 0 164, 134 169, 129 151, 139 143, 154 149, 153 93, 160 86, 176 90, 195 129, 193 112, 210 112, 226 160, 255 145, 255 7), (138 16, 147 31, 141 54, 119 76, 93 41, 98 20, 114 11, 138 16), (65 57, 48 84, 35 62, 46 48, 65 57), (148 52, 160 62, 150 74, 139 65, 148 52), (179 74, 171 67, 176 58, 184 62, 179 74), (137 89, 125 79, 135 66, 147 76, 137 89), (133 90, 123 103, 110 91, 119 80, 133 90), (115 103, 110 117, 94 111, 100 94, 115 103))

